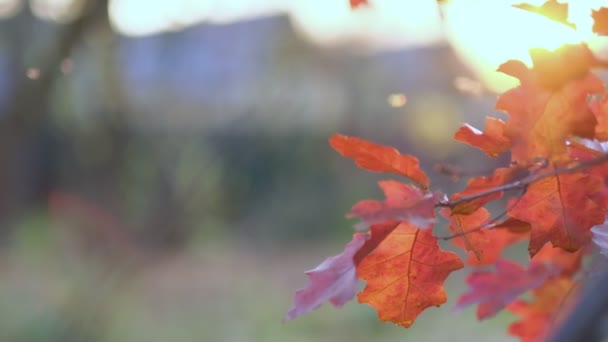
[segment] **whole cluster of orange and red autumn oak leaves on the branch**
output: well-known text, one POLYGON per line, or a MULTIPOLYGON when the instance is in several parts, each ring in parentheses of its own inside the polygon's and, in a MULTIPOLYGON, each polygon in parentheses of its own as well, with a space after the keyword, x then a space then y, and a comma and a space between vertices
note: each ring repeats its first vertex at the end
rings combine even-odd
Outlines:
MULTIPOLYGON (((567 5, 556 1, 520 8, 549 11, 572 25, 566 21, 567 5)), ((595 33, 608 35, 608 8, 593 11, 592 17, 595 33)), ((506 308, 519 317, 510 334, 522 341, 547 336, 558 312, 567 310, 565 299, 576 297, 577 275, 593 241, 608 251, 608 227, 602 224, 608 213, 603 148, 608 145, 602 143, 608 140, 608 92, 591 72, 605 64, 585 43, 533 49, 530 55, 532 67, 511 60, 498 69, 520 81, 496 103, 509 119, 488 117, 484 131, 465 124, 454 136, 491 157, 510 152, 511 163, 489 176, 471 177, 464 190, 451 196, 431 190, 411 155, 355 137, 331 137, 331 146, 360 168, 409 182, 380 181, 384 200, 352 207, 347 217, 360 221, 358 232, 341 254, 306 272, 309 284, 296 292, 287 320, 326 301, 345 304, 363 280, 359 302, 374 307, 380 320, 409 327, 423 310, 446 302, 445 279, 466 265, 473 271, 457 310, 477 305, 481 320, 506 308), (504 211, 492 217, 487 204, 503 197, 504 211), (467 260, 440 248, 433 234, 436 214, 449 220, 446 239, 464 249, 467 260), (501 256, 524 240, 528 265, 501 256), (520 299, 528 291, 531 299, 520 299)))

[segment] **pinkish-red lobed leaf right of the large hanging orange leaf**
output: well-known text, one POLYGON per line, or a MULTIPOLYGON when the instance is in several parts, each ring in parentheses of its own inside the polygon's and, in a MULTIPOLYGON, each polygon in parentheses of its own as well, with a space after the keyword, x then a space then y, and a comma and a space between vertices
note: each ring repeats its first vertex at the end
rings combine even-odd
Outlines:
POLYGON ((467 277, 469 292, 458 298, 455 310, 478 304, 479 320, 494 317, 522 293, 541 286, 559 274, 559 267, 532 263, 527 269, 508 260, 496 262, 496 272, 474 271, 467 277))

